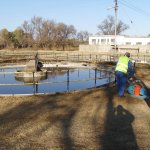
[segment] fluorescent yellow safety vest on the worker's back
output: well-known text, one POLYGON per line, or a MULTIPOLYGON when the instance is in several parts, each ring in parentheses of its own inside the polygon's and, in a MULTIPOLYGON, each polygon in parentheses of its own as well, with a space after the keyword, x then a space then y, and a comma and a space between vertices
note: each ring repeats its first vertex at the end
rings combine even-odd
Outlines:
POLYGON ((128 71, 128 62, 129 62, 129 58, 127 56, 121 56, 119 58, 119 61, 117 63, 117 66, 116 66, 116 69, 115 71, 120 71, 120 72, 123 72, 123 73, 127 73, 128 71))

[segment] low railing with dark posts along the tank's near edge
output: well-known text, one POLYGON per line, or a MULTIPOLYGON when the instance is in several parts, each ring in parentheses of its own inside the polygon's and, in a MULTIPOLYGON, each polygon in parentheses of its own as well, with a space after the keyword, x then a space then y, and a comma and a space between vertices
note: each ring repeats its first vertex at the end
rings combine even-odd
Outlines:
MULTIPOLYGON (((94 72, 94 77, 90 77, 89 75, 89 78, 84 78, 84 79, 76 79, 76 80, 70 80, 70 70, 67 69, 67 73, 66 73, 66 80, 62 80, 62 81, 52 81, 52 82, 37 82, 34 78, 34 72, 33 73, 33 78, 32 78, 32 82, 28 82, 28 83, 3 83, 3 84, 0 84, 0 87, 13 87, 13 86, 32 86, 33 89, 32 89, 32 93, 33 94, 37 94, 38 93, 38 86, 43 84, 43 85, 46 85, 46 84, 61 84, 61 83, 65 83, 65 85, 67 86, 67 91, 70 91, 70 83, 73 83, 73 82, 87 82, 87 81, 91 81, 91 80, 94 80, 94 85, 93 87, 97 87, 97 81, 98 80, 101 80, 101 79, 108 79, 108 82, 107 82, 107 85, 112 83, 114 81, 114 73, 112 71, 107 71, 107 70, 102 70, 102 71, 105 71, 104 74, 101 74, 101 70, 99 68, 95 68, 94 69, 95 72, 94 72), (98 71, 100 72, 100 74, 98 74, 98 71)), ((16 72, 0 72, 0 74, 15 74, 16 72)), ((14 95, 14 93, 12 93, 14 95)))

